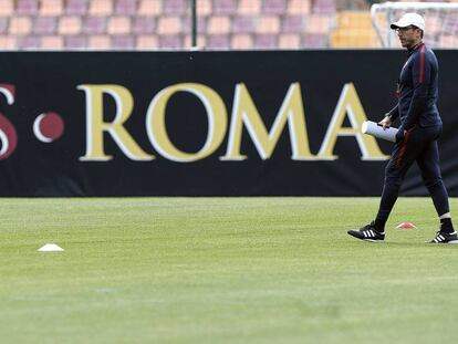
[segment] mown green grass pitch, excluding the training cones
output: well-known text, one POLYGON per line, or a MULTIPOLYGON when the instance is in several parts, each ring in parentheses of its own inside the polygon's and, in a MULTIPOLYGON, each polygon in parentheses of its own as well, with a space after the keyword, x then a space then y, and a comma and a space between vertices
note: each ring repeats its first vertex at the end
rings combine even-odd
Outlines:
POLYGON ((346 234, 377 206, 0 199, 0 342, 456 342, 458 246, 425 243, 429 198, 398 200, 386 242, 346 234), (46 242, 65 251, 38 252, 46 242))

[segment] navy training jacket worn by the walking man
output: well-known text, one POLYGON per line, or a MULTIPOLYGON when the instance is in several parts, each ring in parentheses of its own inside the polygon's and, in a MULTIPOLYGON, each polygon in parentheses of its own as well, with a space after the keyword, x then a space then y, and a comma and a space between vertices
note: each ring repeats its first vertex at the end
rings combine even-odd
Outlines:
POLYGON ((392 121, 399 117, 400 128, 441 125, 437 108, 438 63, 433 50, 419 43, 408 51, 396 94, 397 105, 388 113, 392 121))

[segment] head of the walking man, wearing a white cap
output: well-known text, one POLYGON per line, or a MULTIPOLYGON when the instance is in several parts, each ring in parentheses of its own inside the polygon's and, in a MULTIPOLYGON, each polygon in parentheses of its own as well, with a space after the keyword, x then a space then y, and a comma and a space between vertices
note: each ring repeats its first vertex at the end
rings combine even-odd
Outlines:
POLYGON ((421 42, 425 32, 425 20, 417 13, 406 13, 391 28, 396 30, 400 44, 410 49, 421 42))

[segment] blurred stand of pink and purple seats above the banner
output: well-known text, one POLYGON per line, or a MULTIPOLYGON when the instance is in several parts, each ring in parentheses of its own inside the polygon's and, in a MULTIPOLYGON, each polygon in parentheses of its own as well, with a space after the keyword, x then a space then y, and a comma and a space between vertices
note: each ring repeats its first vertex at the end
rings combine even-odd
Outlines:
MULTIPOLYGON (((378 48, 371 2, 197 0, 197 44, 208 50, 378 48)), ((456 41, 454 37, 443 40, 456 41)), ((0 1, 1 50, 179 50, 190 45, 190 0, 0 1)))

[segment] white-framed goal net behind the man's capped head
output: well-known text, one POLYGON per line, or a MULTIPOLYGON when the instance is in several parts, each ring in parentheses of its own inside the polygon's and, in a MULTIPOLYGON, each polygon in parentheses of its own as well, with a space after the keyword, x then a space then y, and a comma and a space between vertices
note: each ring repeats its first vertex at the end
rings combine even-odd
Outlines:
POLYGON ((407 12, 425 19, 424 42, 431 48, 458 49, 458 3, 384 2, 371 7, 372 22, 384 48, 400 48, 396 32, 389 28, 407 12))

